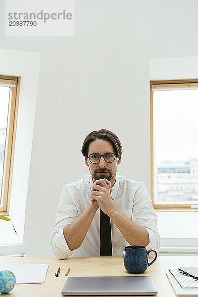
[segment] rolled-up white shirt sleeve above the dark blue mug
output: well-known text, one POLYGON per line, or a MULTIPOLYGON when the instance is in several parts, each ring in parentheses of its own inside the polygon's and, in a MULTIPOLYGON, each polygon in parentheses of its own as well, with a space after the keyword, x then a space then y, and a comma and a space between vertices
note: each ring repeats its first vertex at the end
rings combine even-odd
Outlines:
MULTIPOLYGON (((145 227, 148 231, 149 243, 147 249, 159 251, 160 236, 157 229, 157 215, 149 198, 148 191, 143 184, 134 195, 132 220, 138 225, 145 227)), ((151 252, 149 257, 153 257, 151 252)))

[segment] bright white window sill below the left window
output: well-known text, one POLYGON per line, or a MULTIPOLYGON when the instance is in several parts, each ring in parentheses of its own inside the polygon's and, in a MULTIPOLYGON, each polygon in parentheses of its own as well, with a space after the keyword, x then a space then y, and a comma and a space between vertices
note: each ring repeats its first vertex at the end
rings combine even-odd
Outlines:
POLYGON ((11 221, 0 220, 0 245, 21 243, 11 221))

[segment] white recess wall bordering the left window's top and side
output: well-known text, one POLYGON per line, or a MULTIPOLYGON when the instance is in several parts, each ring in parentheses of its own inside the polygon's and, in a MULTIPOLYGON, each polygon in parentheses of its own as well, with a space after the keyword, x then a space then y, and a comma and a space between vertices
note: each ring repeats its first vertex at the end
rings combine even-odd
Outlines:
POLYGON ((37 52, 0 49, 0 73, 21 77, 9 208, 9 216, 21 240, 24 235, 39 68, 40 54, 37 52))

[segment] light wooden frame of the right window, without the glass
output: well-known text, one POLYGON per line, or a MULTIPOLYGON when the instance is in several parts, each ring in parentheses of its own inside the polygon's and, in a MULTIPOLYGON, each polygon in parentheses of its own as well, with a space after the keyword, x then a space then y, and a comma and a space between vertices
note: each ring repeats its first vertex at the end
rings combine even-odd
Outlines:
POLYGON ((151 183, 151 200, 152 205, 157 211, 198 211, 197 208, 191 208, 191 205, 197 205, 194 201, 161 202, 154 203, 154 164, 153 164, 153 88, 175 88, 179 87, 198 87, 198 79, 181 79, 181 80, 151 80, 150 81, 150 183, 151 183), (158 85, 158 86, 157 86, 158 85))

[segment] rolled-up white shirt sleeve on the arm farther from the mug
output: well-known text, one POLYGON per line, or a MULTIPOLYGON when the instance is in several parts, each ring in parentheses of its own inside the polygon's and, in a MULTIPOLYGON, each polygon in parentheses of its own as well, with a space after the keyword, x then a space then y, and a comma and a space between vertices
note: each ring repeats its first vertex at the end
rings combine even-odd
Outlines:
POLYGON ((66 187, 60 197, 57 205, 55 224, 51 229, 50 243, 53 253, 59 259, 65 259, 71 256, 74 250, 70 250, 63 234, 65 226, 73 223, 78 218, 78 211, 72 198, 69 196, 66 187))

